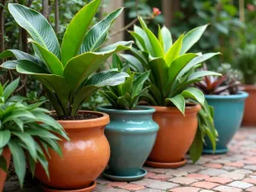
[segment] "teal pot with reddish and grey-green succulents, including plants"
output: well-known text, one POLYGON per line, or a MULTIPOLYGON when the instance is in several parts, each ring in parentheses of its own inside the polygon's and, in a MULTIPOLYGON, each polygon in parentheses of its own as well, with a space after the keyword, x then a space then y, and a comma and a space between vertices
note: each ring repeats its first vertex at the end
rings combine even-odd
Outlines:
POLYGON ((212 143, 207 139, 204 154, 224 154, 228 151, 227 145, 241 125, 244 103, 248 96, 239 89, 239 71, 232 69, 230 64, 222 64, 218 72, 224 76, 204 77, 203 81, 196 83, 214 108, 214 125, 218 131, 216 150, 212 150, 212 143))

